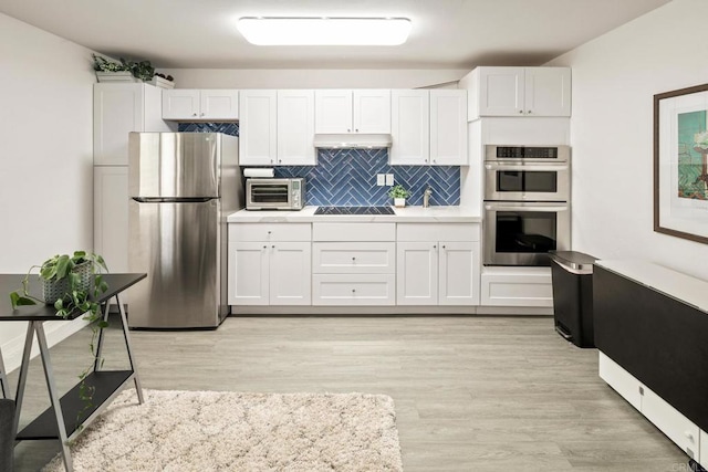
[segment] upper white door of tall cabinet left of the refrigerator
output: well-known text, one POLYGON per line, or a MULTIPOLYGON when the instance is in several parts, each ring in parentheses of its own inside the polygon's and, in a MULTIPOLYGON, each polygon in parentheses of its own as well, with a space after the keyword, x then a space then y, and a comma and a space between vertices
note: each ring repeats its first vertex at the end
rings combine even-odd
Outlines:
POLYGON ((94 165, 127 166, 128 133, 142 132, 143 84, 95 84, 93 88, 94 165))

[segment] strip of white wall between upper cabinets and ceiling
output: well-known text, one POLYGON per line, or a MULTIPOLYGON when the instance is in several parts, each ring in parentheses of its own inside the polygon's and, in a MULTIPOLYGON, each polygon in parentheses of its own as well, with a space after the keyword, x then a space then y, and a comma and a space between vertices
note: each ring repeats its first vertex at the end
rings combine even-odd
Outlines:
POLYGON ((469 70, 221 70, 157 69, 178 88, 425 88, 457 87, 469 70))

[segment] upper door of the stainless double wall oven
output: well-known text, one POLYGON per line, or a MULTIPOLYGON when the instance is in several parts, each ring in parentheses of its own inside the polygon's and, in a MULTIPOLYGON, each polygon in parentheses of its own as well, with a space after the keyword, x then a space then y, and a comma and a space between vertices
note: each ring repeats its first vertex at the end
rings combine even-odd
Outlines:
POLYGON ((485 162, 485 200, 568 201, 568 162, 485 162))

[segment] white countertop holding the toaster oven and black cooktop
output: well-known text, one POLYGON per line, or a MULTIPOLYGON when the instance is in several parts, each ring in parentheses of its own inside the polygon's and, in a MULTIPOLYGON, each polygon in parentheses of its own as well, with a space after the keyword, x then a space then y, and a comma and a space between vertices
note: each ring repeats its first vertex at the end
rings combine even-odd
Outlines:
POLYGON ((394 208, 396 214, 314 214, 317 207, 300 211, 240 210, 229 214, 229 223, 311 223, 311 222, 398 222, 398 223, 481 223, 482 218, 468 207, 394 208))

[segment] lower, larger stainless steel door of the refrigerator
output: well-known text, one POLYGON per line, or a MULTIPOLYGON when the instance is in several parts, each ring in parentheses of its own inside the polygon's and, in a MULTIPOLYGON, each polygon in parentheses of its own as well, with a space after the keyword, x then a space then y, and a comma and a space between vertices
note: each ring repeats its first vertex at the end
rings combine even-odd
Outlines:
POLYGON ((139 203, 128 210, 129 269, 147 280, 131 289, 128 326, 217 327, 228 313, 221 290, 219 201, 139 203))

